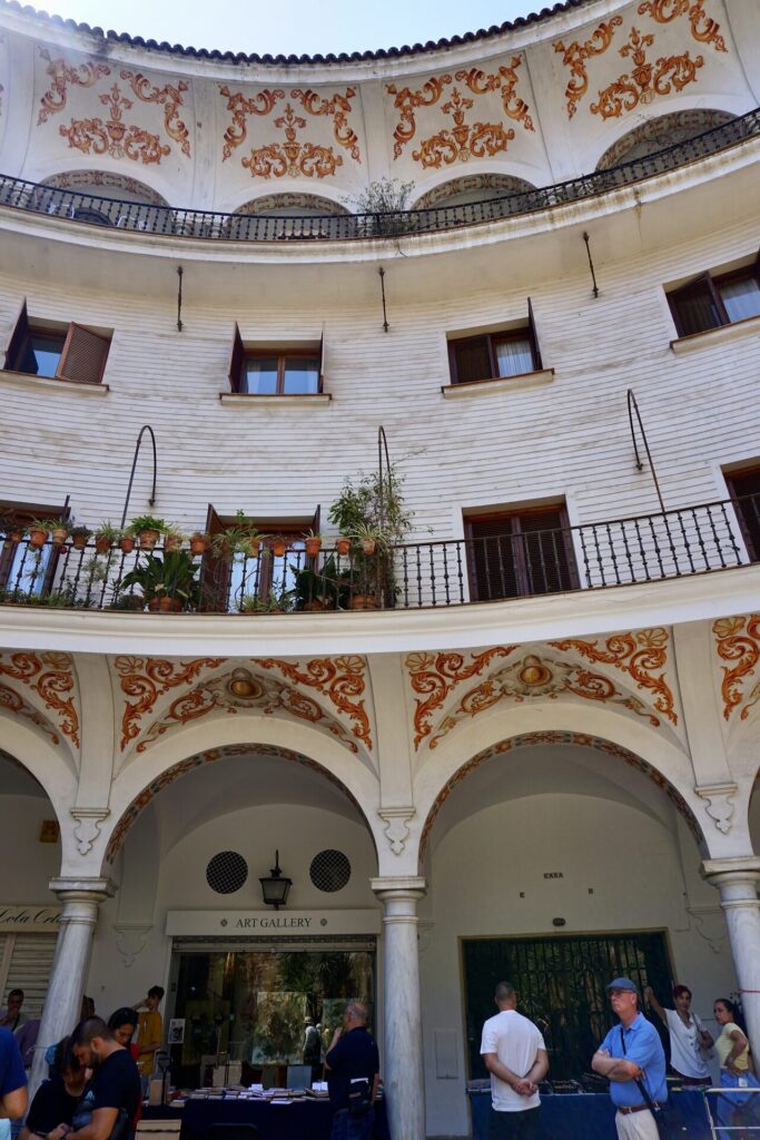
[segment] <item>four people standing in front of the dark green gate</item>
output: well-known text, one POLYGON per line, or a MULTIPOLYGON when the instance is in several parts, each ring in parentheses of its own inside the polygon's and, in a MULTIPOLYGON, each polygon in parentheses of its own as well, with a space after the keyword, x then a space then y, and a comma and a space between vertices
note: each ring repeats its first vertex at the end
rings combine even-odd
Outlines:
MULTIPOLYGON (((641 1012, 638 990, 630 978, 614 978, 606 987, 614 1025, 591 1058, 595 1073, 610 1081, 619 1140, 660 1140, 676 1135, 668 1123, 665 1051, 656 1027, 641 1012)), ((668 1028, 671 1076, 683 1086, 709 1088, 708 1059, 720 1062, 720 1088, 716 1100, 717 1124, 727 1135, 743 1137, 744 1127, 760 1125, 760 1084, 739 1015, 733 1002, 719 997, 713 1016, 720 1034, 713 1041, 692 1012, 688 986, 672 991, 675 1009, 664 1009, 649 986, 649 1008, 668 1028), (713 1053, 714 1049, 714 1053, 713 1053), (728 1091, 730 1090, 730 1091, 728 1091)), ((499 1012, 483 1026, 481 1054, 491 1075, 489 1140, 537 1140, 539 1135, 539 1083, 549 1072, 549 1056, 536 1025, 517 1012, 517 995, 500 982, 493 1000, 499 1012)), ((747 1133, 750 1135, 751 1133, 747 1133)))

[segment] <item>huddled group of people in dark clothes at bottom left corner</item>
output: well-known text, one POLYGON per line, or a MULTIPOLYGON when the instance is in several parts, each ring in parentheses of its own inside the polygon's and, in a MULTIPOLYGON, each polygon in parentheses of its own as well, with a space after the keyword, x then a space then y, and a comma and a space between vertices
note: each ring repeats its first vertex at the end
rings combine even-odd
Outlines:
POLYGON ((24 992, 11 990, 0 1011, 0 1140, 9 1140, 14 1122, 18 1140, 132 1137, 163 1037, 163 988, 153 986, 145 999, 117 1009, 107 1021, 96 1015, 92 1000, 83 997, 71 1035, 46 1050, 48 1080, 30 1105, 28 1073, 40 1018, 27 1018, 24 992))

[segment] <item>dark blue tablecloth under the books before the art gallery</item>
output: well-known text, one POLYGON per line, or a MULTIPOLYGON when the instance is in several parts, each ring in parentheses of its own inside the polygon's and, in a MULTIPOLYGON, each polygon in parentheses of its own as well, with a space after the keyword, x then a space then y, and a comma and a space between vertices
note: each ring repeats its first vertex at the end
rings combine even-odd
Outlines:
MULTIPOLYGON (((333 1110, 326 1100, 270 1105, 263 1100, 188 1100, 180 1140, 206 1140, 212 1124, 255 1124, 262 1140, 329 1140, 333 1110)), ((390 1140, 385 1104, 375 1106, 375 1140, 390 1140)))

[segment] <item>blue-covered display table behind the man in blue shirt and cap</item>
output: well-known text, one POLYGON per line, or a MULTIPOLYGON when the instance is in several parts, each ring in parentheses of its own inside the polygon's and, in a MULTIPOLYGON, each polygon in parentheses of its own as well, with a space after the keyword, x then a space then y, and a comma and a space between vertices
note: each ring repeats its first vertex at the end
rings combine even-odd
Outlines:
MULTIPOLYGON (((491 1093, 471 1092, 473 1140, 488 1137, 491 1093)), ((711 1102, 713 1093, 710 1093, 711 1102)), ((689 1140, 711 1140, 704 1096, 701 1092, 671 1093, 672 1110, 680 1115, 689 1140)), ((714 1108, 713 1108, 714 1112, 714 1108)), ((541 1140, 616 1140, 615 1109, 606 1093, 563 1093, 541 1097, 541 1140)))

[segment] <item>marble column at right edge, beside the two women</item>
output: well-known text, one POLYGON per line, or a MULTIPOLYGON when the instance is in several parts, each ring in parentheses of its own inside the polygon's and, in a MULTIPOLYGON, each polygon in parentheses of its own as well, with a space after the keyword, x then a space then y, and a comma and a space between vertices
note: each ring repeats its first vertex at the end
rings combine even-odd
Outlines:
POLYGON ((747 1034, 757 1056, 760 1051, 760 856, 705 860, 702 868, 708 882, 720 891, 747 1034))

